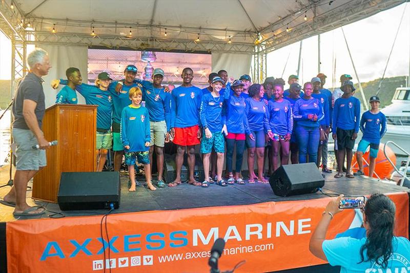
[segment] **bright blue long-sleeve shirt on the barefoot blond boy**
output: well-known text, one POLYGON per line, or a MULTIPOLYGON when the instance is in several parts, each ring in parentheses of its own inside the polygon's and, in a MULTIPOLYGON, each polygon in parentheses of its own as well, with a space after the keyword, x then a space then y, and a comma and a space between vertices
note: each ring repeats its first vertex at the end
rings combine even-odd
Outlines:
POLYGON ((122 109, 121 113, 121 142, 122 145, 129 145, 126 152, 146 152, 150 148, 145 146, 145 142, 150 142, 150 116, 145 107, 135 108, 129 105, 122 109))

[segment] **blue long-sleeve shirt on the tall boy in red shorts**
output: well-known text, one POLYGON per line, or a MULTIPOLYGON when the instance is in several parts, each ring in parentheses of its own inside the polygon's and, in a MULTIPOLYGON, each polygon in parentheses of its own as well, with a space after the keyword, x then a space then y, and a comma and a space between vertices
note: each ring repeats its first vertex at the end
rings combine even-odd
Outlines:
POLYGON ((200 124, 201 97, 202 91, 194 86, 180 86, 172 90, 171 128, 187 128, 200 124))

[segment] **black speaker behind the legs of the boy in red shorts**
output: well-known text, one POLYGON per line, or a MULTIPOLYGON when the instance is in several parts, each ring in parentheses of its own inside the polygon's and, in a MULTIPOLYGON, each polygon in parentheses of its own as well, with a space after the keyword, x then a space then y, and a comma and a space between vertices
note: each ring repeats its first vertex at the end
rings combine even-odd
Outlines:
MULTIPOLYGON (((182 182, 189 180, 189 168, 188 168, 187 157, 188 157, 187 154, 183 156, 183 163, 181 167, 181 181, 182 182)), ((163 176, 165 178, 165 181, 167 181, 167 183, 170 183, 175 180, 175 176, 176 176, 175 154, 174 155, 165 154, 164 162, 165 163, 164 163, 163 176)), ((202 159, 199 154, 195 154, 194 176, 195 176, 195 179, 199 182, 202 182, 204 180, 202 159)))

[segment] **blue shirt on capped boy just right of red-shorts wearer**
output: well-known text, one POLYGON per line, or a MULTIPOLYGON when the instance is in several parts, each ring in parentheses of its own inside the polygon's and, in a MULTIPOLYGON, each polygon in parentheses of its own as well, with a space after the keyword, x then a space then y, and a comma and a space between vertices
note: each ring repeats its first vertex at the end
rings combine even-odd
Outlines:
POLYGON ((212 93, 202 96, 199 116, 202 127, 208 127, 212 133, 221 132, 226 124, 223 110, 223 96, 214 97, 212 93))

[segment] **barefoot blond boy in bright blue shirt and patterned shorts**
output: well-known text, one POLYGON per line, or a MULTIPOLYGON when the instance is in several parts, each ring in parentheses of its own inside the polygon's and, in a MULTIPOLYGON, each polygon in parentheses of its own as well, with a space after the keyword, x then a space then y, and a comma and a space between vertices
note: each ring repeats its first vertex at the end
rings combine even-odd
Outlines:
POLYGON ((125 163, 131 180, 130 192, 135 192, 135 161, 144 164, 146 186, 155 191, 151 183, 151 167, 149 147, 151 141, 150 116, 148 110, 141 106, 142 91, 138 87, 129 90, 132 103, 122 109, 121 113, 121 142, 125 149, 125 163))

